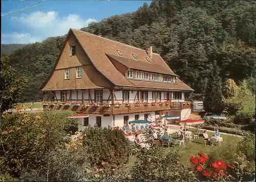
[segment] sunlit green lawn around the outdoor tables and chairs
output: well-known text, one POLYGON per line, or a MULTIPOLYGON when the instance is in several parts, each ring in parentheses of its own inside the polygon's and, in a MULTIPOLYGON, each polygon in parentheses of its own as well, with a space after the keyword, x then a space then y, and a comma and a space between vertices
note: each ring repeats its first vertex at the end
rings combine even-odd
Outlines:
MULTIPOLYGON (((195 129, 189 129, 192 132, 195 132, 195 129)), ((200 132, 202 134, 202 131, 200 132)), ((214 132, 207 132, 209 137, 214 134, 214 132)), ((175 134, 172 134, 172 137, 175 137, 175 134)), ((164 148, 164 150, 166 151, 166 153, 170 150, 175 150, 178 149, 178 151, 181 154, 181 162, 186 165, 189 164, 189 158, 191 155, 197 155, 198 152, 203 152, 204 154, 208 155, 212 150, 216 150, 218 149, 218 151, 216 152, 217 155, 221 155, 219 154, 219 152, 223 151, 223 155, 225 155, 224 153, 227 152, 227 149, 230 150, 230 148, 234 147, 236 145, 236 143, 238 142, 238 140, 240 138, 237 137, 232 137, 230 135, 224 135, 221 134, 221 137, 223 138, 223 142, 221 144, 221 146, 210 146, 210 145, 204 145, 204 141, 202 137, 199 137, 199 139, 193 140, 193 142, 191 142, 191 144, 189 144, 189 141, 185 141, 185 146, 174 146, 174 147, 170 147, 170 148, 164 148)), ((228 156, 227 156, 228 158, 228 156)), ((134 155, 130 156, 130 160, 129 163, 127 164, 127 168, 131 168, 135 162, 136 158, 134 155)), ((230 159, 231 160, 231 159, 230 159)))

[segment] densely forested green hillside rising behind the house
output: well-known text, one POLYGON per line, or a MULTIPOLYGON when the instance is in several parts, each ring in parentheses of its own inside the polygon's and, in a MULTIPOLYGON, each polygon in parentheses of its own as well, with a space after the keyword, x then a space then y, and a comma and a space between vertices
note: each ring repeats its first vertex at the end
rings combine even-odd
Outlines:
MULTIPOLYGON (((168 65, 202 99, 214 60, 222 82, 255 75, 253 1, 152 1, 136 12, 105 18, 81 30, 145 49, 153 45, 168 65)), ((65 37, 29 44, 11 55, 30 83, 23 101, 40 100, 39 86, 50 74, 65 37)))

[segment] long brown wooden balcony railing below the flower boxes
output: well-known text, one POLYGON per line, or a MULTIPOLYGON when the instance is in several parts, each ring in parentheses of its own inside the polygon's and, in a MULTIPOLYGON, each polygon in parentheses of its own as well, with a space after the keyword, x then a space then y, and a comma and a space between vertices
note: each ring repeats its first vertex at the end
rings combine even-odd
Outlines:
MULTIPOLYGON (((46 106, 44 106, 46 107, 46 106)), ((48 107, 53 108, 56 106, 48 105, 48 107)), ((159 103, 156 103, 155 105, 152 105, 151 103, 148 103, 147 105, 144 104, 130 104, 129 106, 125 104, 120 104, 118 107, 109 105, 104 106, 103 104, 99 104, 99 106, 93 106, 92 104, 89 104, 89 106, 83 106, 83 105, 74 105, 71 104, 70 106, 67 105, 60 105, 56 107, 57 109, 62 110, 72 110, 77 113, 93 113, 93 114, 100 114, 100 115, 117 115, 117 114, 123 114, 123 113, 135 113, 135 112, 151 112, 151 111, 162 111, 162 110, 180 110, 180 109, 187 109, 190 108, 190 105, 182 104, 182 103, 176 103, 171 105, 166 105, 163 103, 162 105, 159 105, 159 103)))

